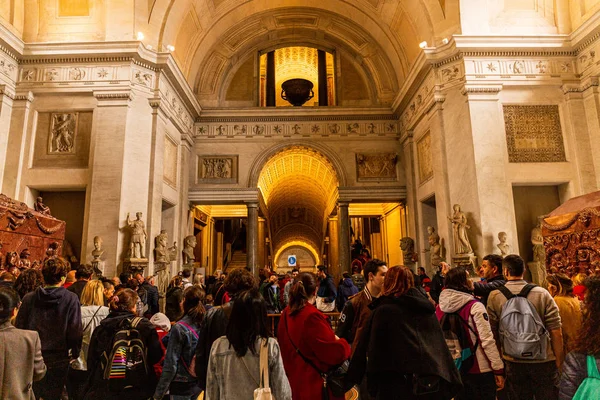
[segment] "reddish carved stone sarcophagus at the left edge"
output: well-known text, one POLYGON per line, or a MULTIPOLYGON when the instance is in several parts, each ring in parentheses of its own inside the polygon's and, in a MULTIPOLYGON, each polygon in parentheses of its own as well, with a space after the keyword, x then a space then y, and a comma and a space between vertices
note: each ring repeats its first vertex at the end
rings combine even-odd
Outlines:
MULTIPOLYGON (((41 204, 41 201, 40 203, 41 204)), ((43 206, 43 205, 42 205, 43 206)), ((0 194, 0 265, 3 269, 41 266, 44 258, 60 255, 64 221, 0 194)))

